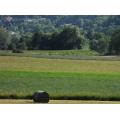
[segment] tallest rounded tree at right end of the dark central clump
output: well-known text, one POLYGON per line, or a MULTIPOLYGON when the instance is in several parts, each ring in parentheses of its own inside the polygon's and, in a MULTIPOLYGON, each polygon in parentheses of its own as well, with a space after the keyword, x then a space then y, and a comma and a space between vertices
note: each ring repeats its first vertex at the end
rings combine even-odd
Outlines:
POLYGON ((73 25, 65 26, 58 37, 59 49, 80 49, 83 41, 81 30, 73 25))

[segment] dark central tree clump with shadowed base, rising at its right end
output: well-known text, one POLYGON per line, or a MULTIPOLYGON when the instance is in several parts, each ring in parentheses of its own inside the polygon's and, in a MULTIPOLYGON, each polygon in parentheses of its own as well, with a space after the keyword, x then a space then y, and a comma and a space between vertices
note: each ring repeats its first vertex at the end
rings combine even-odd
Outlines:
POLYGON ((36 32, 32 38, 33 49, 65 50, 80 49, 83 46, 83 32, 76 26, 65 26, 54 33, 36 32))

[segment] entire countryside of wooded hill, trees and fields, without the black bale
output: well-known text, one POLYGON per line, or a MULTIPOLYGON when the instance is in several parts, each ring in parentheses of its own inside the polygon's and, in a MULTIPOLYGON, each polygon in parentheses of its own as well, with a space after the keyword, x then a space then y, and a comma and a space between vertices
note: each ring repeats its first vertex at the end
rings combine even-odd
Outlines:
POLYGON ((1 15, 0 103, 120 103, 119 15, 1 15))

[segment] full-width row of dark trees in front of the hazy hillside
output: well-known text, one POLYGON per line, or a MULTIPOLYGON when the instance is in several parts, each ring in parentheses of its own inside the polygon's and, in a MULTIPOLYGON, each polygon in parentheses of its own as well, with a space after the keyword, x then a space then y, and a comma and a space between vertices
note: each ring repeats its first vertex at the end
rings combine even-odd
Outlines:
POLYGON ((55 32, 11 33, 0 28, 0 50, 71 50, 82 49, 88 44, 90 50, 101 55, 120 54, 120 29, 114 30, 111 36, 89 30, 85 32, 75 25, 66 25, 55 32))

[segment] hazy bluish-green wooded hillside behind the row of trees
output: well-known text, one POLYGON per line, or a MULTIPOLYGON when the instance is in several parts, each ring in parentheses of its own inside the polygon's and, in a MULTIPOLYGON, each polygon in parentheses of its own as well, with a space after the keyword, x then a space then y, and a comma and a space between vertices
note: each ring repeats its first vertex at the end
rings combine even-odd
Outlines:
POLYGON ((1 15, 0 27, 13 32, 51 32, 66 24, 77 25, 86 32, 97 31, 111 35, 120 27, 120 16, 97 15, 1 15))

